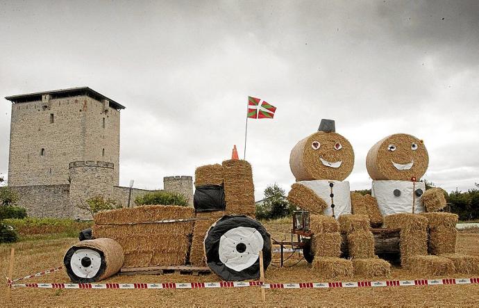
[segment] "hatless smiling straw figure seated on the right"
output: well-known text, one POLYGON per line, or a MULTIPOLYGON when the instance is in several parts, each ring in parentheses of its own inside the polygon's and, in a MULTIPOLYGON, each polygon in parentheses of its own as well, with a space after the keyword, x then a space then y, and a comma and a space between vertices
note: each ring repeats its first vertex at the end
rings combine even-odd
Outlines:
POLYGON ((424 275, 479 273, 479 258, 456 254, 457 215, 438 212, 444 191, 419 181, 428 168, 423 140, 396 133, 373 145, 366 166, 384 216, 384 226, 401 229, 401 264, 424 275), (429 240, 428 240, 429 238, 429 240))

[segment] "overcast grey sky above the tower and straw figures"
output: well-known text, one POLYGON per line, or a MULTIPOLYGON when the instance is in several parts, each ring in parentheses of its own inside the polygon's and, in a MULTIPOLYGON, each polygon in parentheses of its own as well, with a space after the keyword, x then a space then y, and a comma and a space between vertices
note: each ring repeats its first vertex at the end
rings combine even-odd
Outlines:
MULTIPOLYGON (((479 181, 479 1, 0 1, 0 42, 1 97, 90 86, 126 106, 123 185, 242 156, 248 95, 278 108, 249 121, 258 199, 289 190, 289 152, 322 117, 353 145, 352 189, 400 132, 425 141, 426 179, 479 181)), ((4 99, 0 118, 5 175, 4 99)))

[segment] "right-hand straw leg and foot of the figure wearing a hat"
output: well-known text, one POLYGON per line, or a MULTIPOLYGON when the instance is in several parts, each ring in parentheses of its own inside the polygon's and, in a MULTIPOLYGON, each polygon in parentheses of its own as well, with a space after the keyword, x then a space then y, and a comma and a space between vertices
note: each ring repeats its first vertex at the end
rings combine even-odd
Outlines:
POLYGON ((374 236, 369 231, 369 224, 367 215, 339 216, 341 232, 347 235, 349 257, 353 259, 355 274, 361 277, 387 276, 391 265, 374 254, 374 236))

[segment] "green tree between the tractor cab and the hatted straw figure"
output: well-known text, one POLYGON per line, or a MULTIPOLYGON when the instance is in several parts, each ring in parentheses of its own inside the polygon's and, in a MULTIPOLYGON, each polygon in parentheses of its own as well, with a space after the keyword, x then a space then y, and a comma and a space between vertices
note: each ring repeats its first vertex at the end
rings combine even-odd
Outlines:
POLYGON ((256 206, 256 218, 277 219, 291 215, 292 211, 292 205, 285 197, 285 190, 275 183, 264 190, 264 202, 256 206))

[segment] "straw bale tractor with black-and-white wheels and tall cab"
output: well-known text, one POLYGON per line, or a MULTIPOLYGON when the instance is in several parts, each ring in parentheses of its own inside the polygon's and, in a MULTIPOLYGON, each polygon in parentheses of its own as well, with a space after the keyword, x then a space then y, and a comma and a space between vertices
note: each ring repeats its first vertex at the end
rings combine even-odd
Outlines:
POLYGON ((72 281, 96 282, 119 270, 161 266, 208 266, 228 281, 258 279, 259 252, 267 268, 271 239, 254 219, 251 165, 238 159, 205 165, 195 178, 194 209, 156 205, 96 213, 94 239, 65 254, 72 281))

